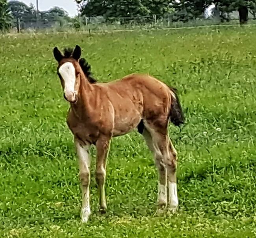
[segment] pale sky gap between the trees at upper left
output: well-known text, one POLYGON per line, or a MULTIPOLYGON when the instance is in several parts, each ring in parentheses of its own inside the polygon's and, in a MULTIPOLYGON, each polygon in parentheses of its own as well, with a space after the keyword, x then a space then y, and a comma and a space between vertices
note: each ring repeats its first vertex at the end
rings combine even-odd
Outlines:
MULTIPOLYGON (((26 5, 32 2, 36 6, 36 0, 20 0, 20 2, 26 5)), ((77 15, 77 5, 74 0, 38 0, 39 11, 49 10, 54 6, 62 7, 70 16, 77 15)))

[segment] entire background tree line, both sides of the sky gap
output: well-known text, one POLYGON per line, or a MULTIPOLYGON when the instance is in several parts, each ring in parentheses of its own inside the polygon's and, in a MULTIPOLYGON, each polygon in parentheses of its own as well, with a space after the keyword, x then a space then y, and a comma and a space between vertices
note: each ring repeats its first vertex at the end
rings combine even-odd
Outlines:
MULTIPOLYGON (((240 24, 248 20, 248 13, 256 13, 256 0, 75 0, 79 6, 79 16, 101 16, 109 18, 135 18, 136 16, 152 16, 162 18, 171 15, 172 21, 189 21, 200 18, 210 5, 214 4, 215 14, 222 21, 228 21, 228 13, 238 11, 240 24)), ((37 19, 40 22, 54 22, 61 19, 70 21, 68 13, 53 7, 48 11, 39 11, 33 4, 26 5, 23 2, 12 0, 0 0, 0 31, 9 29, 19 24, 33 23, 37 19)), ((71 19, 72 20, 72 19, 71 19)), ((74 21, 76 19, 73 19, 74 21)))

